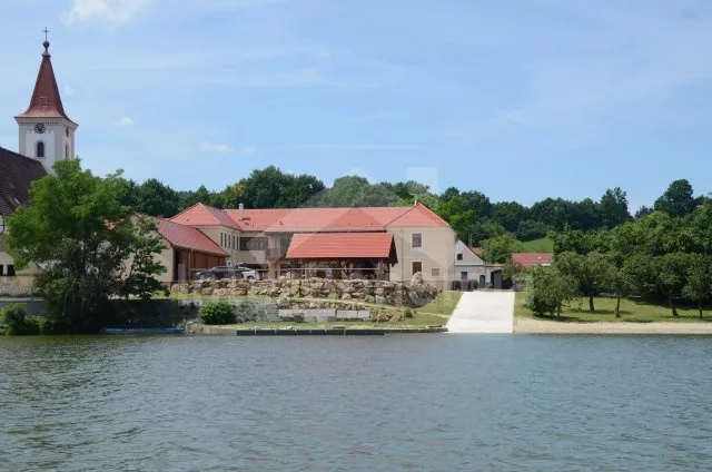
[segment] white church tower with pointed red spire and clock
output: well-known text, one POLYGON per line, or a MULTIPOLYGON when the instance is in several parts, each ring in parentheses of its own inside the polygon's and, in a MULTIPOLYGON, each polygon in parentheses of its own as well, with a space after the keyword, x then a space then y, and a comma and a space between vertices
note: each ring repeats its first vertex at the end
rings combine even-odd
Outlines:
POLYGON ((19 153, 40 160, 47 173, 52 174, 55 163, 75 157, 75 131, 79 125, 69 119, 62 107, 47 29, 44 35, 44 52, 30 107, 14 119, 19 126, 19 153))

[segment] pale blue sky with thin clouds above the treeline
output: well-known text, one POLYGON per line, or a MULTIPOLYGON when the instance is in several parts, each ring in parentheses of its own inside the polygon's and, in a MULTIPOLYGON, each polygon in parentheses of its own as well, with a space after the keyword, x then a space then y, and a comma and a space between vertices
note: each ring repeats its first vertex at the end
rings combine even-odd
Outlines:
POLYGON ((712 191, 704 0, 3 0, 0 146, 47 26, 98 174, 221 189, 276 165, 493 200, 712 191))

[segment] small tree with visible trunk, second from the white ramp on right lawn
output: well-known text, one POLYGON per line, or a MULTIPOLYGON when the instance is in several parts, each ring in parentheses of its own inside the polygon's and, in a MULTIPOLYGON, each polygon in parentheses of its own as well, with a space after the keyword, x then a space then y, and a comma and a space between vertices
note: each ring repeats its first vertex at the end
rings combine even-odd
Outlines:
POLYGON ((589 298, 589 309, 595 312, 593 297, 611 278, 610 259, 596 252, 586 255, 566 252, 556 255, 554 265, 561 274, 577 281, 580 293, 589 298))

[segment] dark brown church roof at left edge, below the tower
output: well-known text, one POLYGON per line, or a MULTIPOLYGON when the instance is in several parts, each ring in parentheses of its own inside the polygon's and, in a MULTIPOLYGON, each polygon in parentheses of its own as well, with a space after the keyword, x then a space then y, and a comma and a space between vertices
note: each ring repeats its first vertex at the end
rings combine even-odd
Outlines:
POLYGON ((30 184, 47 175, 42 163, 0 147, 0 215, 30 203, 30 184))

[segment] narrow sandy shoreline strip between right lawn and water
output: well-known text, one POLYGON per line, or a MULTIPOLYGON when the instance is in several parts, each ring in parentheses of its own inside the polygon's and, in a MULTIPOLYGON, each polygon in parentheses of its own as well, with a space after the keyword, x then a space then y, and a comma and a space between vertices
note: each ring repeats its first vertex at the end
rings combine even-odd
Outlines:
POLYGON ((514 317, 514 334, 680 334, 712 335, 712 323, 554 322, 514 317))

